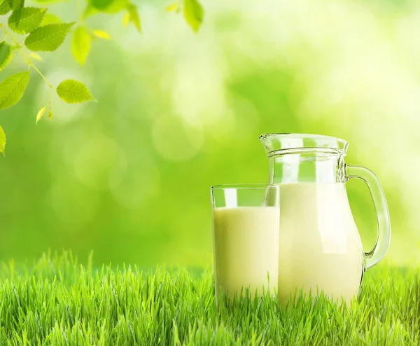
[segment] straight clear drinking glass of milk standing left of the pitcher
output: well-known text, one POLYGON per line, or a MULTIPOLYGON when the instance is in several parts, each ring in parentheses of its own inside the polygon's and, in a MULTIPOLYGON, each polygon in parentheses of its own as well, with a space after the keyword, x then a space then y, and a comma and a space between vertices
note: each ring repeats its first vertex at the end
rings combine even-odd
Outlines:
POLYGON ((276 185, 211 187, 216 301, 277 291, 279 201, 276 185))

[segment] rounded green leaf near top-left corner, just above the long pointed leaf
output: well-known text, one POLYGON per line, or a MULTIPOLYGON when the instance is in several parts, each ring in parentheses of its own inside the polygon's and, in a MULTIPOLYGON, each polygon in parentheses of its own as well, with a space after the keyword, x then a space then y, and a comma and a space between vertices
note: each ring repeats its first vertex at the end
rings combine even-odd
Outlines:
POLYGON ((46 11, 38 7, 19 8, 10 15, 8 26, 18 34, 29 34, 41 24, 46 11))

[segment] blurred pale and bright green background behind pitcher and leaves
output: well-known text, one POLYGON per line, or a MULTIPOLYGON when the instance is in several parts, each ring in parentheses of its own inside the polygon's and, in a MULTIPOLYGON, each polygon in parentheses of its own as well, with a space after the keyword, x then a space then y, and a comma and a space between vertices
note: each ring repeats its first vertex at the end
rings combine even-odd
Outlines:
MULTIPOLYGON (((1 111, 0 259, 73 249, 95 263, 209 265, 209 187, 264 183, 263 132, 349 141, 346 162, 381 179, 393 237, 386 257, 418 261, 420 4, 418 1, 203 0, 193 34, 165 1, 142 1, 144 34, 123 14, 88 20, 97 41, 85 67, 70 40, 38 67, 57 85, 77 78, 97 103, 53 99, 31 74, 22 101, 1 111)), ((77 18, 74 4, 50 12, 77 18)), ((4 18, 1 18, 3 21, 4 18)), ((25 69, 22 60, 1 79, 25 69)), ((362 182, 348 185, 365 250, 376 237, 362 182)))

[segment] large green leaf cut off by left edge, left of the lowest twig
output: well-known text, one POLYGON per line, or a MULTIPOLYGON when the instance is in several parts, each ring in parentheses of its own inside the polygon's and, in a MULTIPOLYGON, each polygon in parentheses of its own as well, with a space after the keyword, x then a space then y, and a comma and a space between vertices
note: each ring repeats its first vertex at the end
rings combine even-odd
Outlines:
POLYGON ((29 71, 19 72, 0 83, 0 109, 14 106, 22 98, 29 82, 29 71))

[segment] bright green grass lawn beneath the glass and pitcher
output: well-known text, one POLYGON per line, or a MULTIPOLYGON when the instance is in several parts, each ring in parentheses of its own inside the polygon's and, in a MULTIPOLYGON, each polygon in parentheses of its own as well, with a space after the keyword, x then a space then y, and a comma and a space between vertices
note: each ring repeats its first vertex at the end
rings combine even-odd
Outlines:
POLYGON ((351 307, 214 301, 210 270, 93 270, 69 253, 3 265, 0 345, 419 345, 419 270, 366 272, 351 307))

